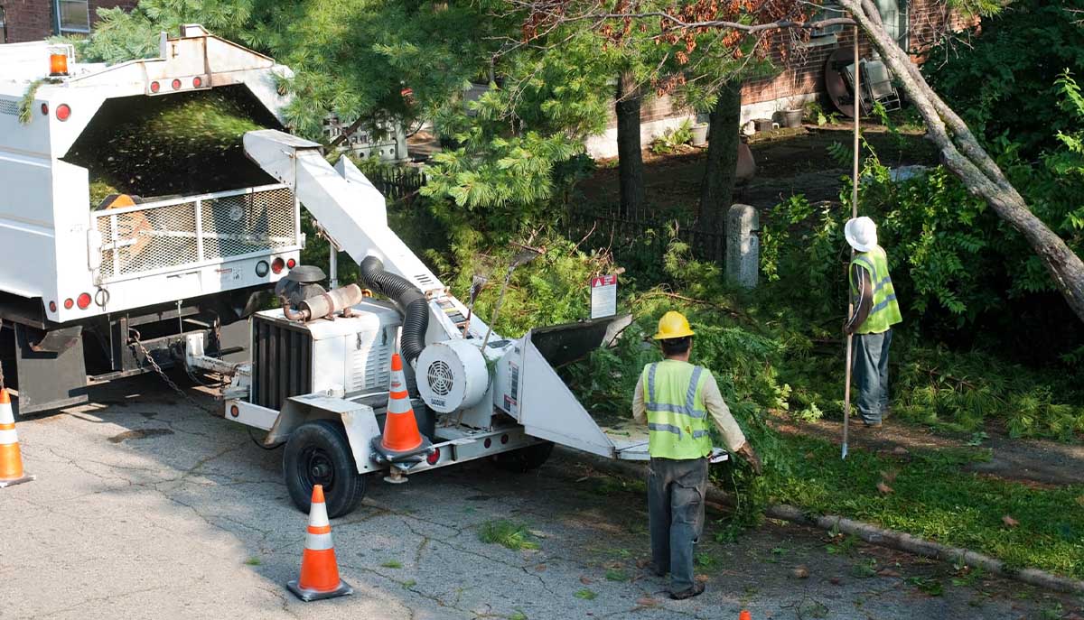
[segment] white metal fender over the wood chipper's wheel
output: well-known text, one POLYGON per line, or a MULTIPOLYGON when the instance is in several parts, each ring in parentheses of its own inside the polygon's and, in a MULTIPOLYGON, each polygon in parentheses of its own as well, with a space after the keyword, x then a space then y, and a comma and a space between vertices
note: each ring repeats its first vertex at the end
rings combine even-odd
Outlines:
POLYGON ((378 469, 372 461, 370 448, 373 438, 380 436, 376 412, 367 404, 341 398, 310 393, 286 399, 282 413, 272 425, 264 443, 286 441, 294 430, 312 419, 340 421, 346 428, 346 437, 350 441, 350 451, 353 453, 354 463, 358 464, 358 473, 366 474, 378 469))

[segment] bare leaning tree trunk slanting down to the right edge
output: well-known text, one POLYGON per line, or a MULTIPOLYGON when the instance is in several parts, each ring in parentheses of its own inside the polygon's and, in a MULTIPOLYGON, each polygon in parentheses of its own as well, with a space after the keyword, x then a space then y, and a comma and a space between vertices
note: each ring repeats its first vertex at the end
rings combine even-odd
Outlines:
POLYGON ((971 193, 981 196, 995 214, 1023 235, 1043 260, 1069 307, 1084 321, 1084 262, 1066 242, 1035 217, 1023 196, 1005 178, 964 120, 926 82, 907 53, 888 35, 872 0, 840 0, 873 44, 928 128, 927 137, 941 150, 945 166, 971 193))

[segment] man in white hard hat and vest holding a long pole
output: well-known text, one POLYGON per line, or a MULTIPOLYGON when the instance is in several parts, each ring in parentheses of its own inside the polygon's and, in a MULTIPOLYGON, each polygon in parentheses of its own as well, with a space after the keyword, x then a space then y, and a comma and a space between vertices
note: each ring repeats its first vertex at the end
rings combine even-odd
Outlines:
POLYGON ((854 218, 843 227, 855 255, 848 268, 854 311, 843 330, 854 334, 854 380, 859 387, 859 414, 866 428, 878 428, 888 411, 888 350, 892 325, 901 322, 888 255, 877 245, 877 225, 869 218, 854 218))

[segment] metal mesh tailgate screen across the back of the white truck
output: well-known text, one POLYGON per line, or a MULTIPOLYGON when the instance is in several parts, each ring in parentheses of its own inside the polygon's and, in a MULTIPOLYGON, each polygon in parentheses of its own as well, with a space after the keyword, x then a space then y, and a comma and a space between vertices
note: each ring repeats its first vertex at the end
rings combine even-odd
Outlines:
POLYGON ((176 205, 96 214, 104 280, 298 243, 294 196, 286 188, 228 192, 176 205))

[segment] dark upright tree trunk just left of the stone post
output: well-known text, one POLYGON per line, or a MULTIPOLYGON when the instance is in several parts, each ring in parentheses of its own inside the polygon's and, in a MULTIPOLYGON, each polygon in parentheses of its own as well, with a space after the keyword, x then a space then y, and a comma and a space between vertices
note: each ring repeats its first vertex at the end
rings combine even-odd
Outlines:
POLYGON ((726 210, 734 197, 738 166, 738 124, 741 122, 741 82, 728 81, 719 89, 719 100, 711 111, 708 130, 708 160, 700 184, 699 229, 705 235, 708 256, 723 257, 726 210))

